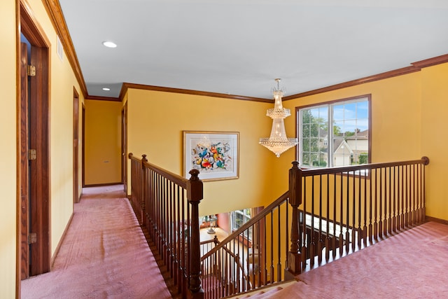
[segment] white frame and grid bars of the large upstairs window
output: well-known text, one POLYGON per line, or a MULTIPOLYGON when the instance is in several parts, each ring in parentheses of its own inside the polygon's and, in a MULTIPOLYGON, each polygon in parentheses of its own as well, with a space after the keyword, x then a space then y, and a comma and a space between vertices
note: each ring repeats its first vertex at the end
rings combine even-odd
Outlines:
MULTIPOLYGON (((368 109, 368 113, 367 113, 367 129, 368 129, 368 138, 367 138, 367 147, 368 147, 368 151, 367 151, 367 163, 370 163, 370 157, 372 155, 371 150, 370 150, 370 144, 371 144, 371 135, 372 135, 372 125, 371 125, 371 121, 372 121, 372 109, 371 109, 371 104, 372 104, 372 98, 371 95, 360 95, 358 97, 351 97, 351 98, 346 98, 346 99, 338 99, 335 101, 330 101, 330 102, 324 102, 324 103, 318 103, 318 104, 313 104, 313 105, 307 105, 307 106, 300 106, 300 107, 296 107, 296 132, 297 132, 297 139, 299 141, 299 144, 296 147, 296 159, 297 161, 300 162, 300 165, 302 167, 306 167, 306 168, 323 168, 323 167, 339 167, 339 166, 333 166, 333 161, 334 161, 334 151, 335 149, 332 148, 333 147, 333 142, 330 142, 334 136, 333 136, 333 126, 332 124, 334 123, 334 116, 333 116, 333 107, 335 106, 340 106, 342 104, 352 104, 352 103, 357 103, 357 102, 367 102, 367 109, 368 109), (326 151, 326 165, 325 166, 319 166, 319 165, 313 165, 313 161, 310 157, 310 160, 307 162, 307 165, 304 165, 302 163, 302 145, 303 145, 303 140, 302 140, 302 111, 304 110, 309 110, 309 109, 318 109, 318 108, 324 108, 327 109, 327 113, 328 115, 325 116, 327 118, 326 123, 327 123, 327 138, 323 139, 323 144, 327 144, 327 151, 326 151), (325 142, 326 141, 326 142, 325 142)), ((356 118, 358 119, 358 118, 356 118)), ((321 139, 321 137, 318 137, 319 139, 321 139)), ((346 141, 346 139, 344 139, 344 141, 346 141)), ((319 141, 318 141, 319 142, 319 141)), ((309 152, 310 156, 313 152, 309 152)), ((317 155, 320 155, 320 152, 318 151, 316 153, 317 155)), ((361 155, 362 153, 359 153, 358 155, 361 155)), ((349 158, 351 161, 351 158, 349 158)), ((320 162, 320 158, 318 158, 318 164, 321 164, 320 162)), ((349 164, 351 165, 351 163, 349 164)))

